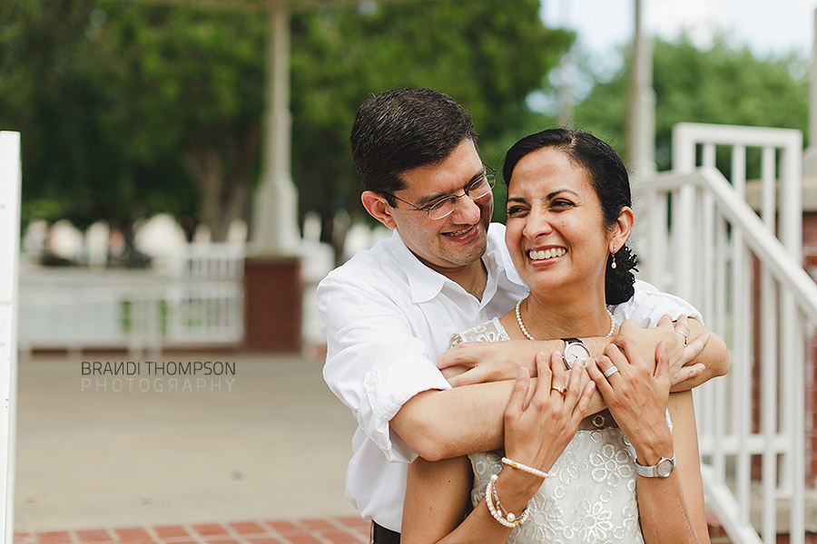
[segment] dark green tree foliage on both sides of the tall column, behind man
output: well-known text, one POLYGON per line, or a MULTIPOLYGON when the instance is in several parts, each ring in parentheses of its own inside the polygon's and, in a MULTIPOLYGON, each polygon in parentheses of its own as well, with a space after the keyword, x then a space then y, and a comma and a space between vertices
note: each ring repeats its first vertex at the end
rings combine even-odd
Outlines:
MULTIPOLYGON (((400 85, 452 94, 497 162, 532 120, 528 92, 572 41, 538 0, 323 9, 291 19, 292 170, 324 241, 359 210, 354 112, 400 85), (524 128, 523 128, 524 127, 524 128), (342 215, 342 214, 341 214, 342 215)), ((267 17, 122 0, 0 4, 0 126, 23 132, 25 219, 104 219, 133 235, 158 211, 213 238, 249 213, 259 174, 267 17)))

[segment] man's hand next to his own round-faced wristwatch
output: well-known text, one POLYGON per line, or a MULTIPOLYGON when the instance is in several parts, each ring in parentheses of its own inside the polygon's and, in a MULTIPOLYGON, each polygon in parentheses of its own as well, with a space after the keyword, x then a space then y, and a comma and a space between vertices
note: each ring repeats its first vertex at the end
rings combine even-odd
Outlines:
POLYGON ((520 367, 536 376, 536 354, 528 340, 463 342, 437 360, 437 367, 452 387, 514 380, 520 367))

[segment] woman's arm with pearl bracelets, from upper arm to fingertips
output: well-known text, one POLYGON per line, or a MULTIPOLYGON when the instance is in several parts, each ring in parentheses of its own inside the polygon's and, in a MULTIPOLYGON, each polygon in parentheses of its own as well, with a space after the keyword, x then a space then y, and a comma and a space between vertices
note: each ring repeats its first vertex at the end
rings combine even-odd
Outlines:
MULTIPOLYGON (((529 373, 520 369, 504 414, 507 456, 538 471, 548 471, 576 434, 595 389, 583 369, 569 375, 561 359, 536 357, 539 379, 527 401, 529 373), (586 383, 584 383, 586 382, 586 383), (559 390, 565 387, 566 390, 559 390)), ((400 540, 404 544, 434 542, 504 542, 511 529, 494 518, 487 498, 463 520, 471 489, 468 458, 443 461, 418 459, 408 468, 400 540)), ((542 485, 542 478, 505 466, 494 481, 502 508, 517 519, 542 485)), ((509 518, 506 518, 509 520, 509 518)))

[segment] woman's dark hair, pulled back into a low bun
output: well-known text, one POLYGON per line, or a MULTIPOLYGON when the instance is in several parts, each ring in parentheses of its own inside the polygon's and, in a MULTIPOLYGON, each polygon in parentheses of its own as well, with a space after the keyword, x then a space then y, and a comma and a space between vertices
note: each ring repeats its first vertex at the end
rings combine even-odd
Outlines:
MULTIPOLYGON (((548 129, 517 141, 505 155, 505 165, 502 168, 505 184, 510 184, 511 175, 519 160, 528 153, 548 147, 563 151, 586 170, 601 202, 606 228, 611 228, 615 224, 622 208, 632 206, 630 180, 621 157, 609 144, 584 131, 548 129)), ((620 304, 633 296, 635 292, 633 271, 638 271, 635 265, 635 254, 626 244, 615 252, 615 256, 607 257, 605 273, 607 304, 620 304), (611 268, 610 264, 614 257, 615 268, 611 268)))

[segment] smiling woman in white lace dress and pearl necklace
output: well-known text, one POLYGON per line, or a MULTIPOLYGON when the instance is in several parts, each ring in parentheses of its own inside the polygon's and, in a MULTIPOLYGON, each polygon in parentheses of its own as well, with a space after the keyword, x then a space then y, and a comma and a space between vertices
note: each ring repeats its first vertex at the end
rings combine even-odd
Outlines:
MULTIPOLYGON (((530 296, 460 339, 612 335, 606 304, 632 296, 635 266, 615 151, 586 132, 542 131, 507 152, 503 173, 507 247, 530 296)), ((660 318, 620 307, 642 326, 660 318)), ((505 452, 415 461, 402 542, 708 542, 692 395, 670 397, 664 345, 655 363, 619 344, 570 370, 540 354, 529 399, 520 368, 505 452), (608 412, 585 418, 595 389, 608 412)))

